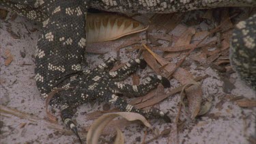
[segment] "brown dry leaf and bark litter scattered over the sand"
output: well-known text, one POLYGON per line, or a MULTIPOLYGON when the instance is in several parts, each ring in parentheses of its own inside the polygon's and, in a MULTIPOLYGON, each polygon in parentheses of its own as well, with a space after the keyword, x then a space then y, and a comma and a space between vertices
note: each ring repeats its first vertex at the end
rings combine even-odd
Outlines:
MULTIPOLYGON (((175 18, 175 14, 172 14, 171 16, 175 18)), ((166 16, 162 16, 162 17, 156 16, 156 17, 163 18, 163 19, 166 18, 166 16)), ((176 16, 176 21, 178 23, 180 23, 180 18, 177 18, 177 17, 178 16, 176 16)), ((182 16, 180 16, 180 17, 182 17, 182 16)), ((223 20, 224 24, 229 23, 229 27, 227 29, 229 29, 230 27, 233 27, 233 25, 230 25, 231 22, 229 19, 230 18, 228 17, 225 20, 223 20)), ((156 26, 158 31, 160 31, 160 29, 165 29, 165 31, 169 32, 178 25, 178 23, 175 23, 175 22, 171 23, 171 20, 167 20, 166 22, 162 20, 162 22, 163 23, 156 26)), ((117 46, 115 48, 115 51, 118 51, 119 49, 124 48, 126 46, 131 46, 132 44, 141 44, 142 43, 143 46, 138 46, 138 47, 139 47, 139 49, 143 50, 143 57, 144 57, 145 61, 147 62, 147 64, 152 68, 152 70, 154 70, 154 72, 156 72, 157 74, 160 74, 162 76, 168 76, 169 78, 171 78, 173 76, 181 84, 180 87, 171 89, 167 93, 163 93, 162 87, 159 86, 158 89, 151 91, 146 96, 142 96, 140 98, 134 98, 130 102, 130 104, 135 104, 135 106, 137 108, 145 109, 145 108, 148 108, 149 106, 153 106, 154 104, 158 104, 162 100, 165 100, 166 98, 169 98, 170 96, 173 96, 175 93, 182 91, 184 86, 186 84, 190 83, 191 81, 203 80, 206 76, 199 76, 199 77, 193 78, 193 74, 190 74, 190 72, 188 70, 185 70, 184 68, 181 67, 182 62, 185 61, 186 57, 188 57, 188 59, 193 59, 195 61, 205 63, 206 65, 204 65, 204 66, 210 66, 211 63, 214 63, 217 66, 225 65, 225 68, 227 70, 230 69, 229 68, 229 60, 221 59, 221 57, 227 56, 227 50, 229 48, 229 37, 227 35, 223 35, 223 40, 221 41, 221 48, 216 48, 214 51, 208 51, 208 49, 209 49, 208 47, 213 46, 216 43, 216 40, 211 40, 211 41, 205 40, 205 38, 207 38, 211 33, 223 30, 223 23, 220 26, 216 27, 216 29, 213 29, 210 32, 209 31, 196 32, 195 29, 193 29, 193 27, 189 27, 188 29, 186 29, 186 31, 184 33, 182 33, 182 36, 180 36, 180 37, 169 35, 168 33, 165 33, 165 35, 167 35, 167 36, 162 37, 162 38, 160 37, 161 34, 159 34, 159 33, 150 35, 150 42, 152 44, 154 44, 154 46, 151 46, 151 45, 148 46, 147 44, 144 44, 142 42, 142 39, 139 37, 129 38, 130 41, 124 42, 124 44, 117 46), (198 39, 201 38, 201 40, 199 39, 199 42, 192 43, 192 40, 197 39, 197 38, 198 39), (160 40, 160 39, 166 40, 169 43, 175 42, 175 45, 164 47, 164 46, 162 46, 162 44, 160 44, 158 42, 158 40, 160 40), (137 41, 135 42, 134 40, 137 40, 137 41), (201 53, 201 54, 199 57, 197 57, 195 54, 192 53, 196 48, 200 50, 199 53, 201 53), (154 51, 162 51, 162 52, 165 52, 165 54, 158 55, 154 51), (183 56, 182 59, 176 64, 176 63, 172 63, 167 60, 167 58, 169 58, 167 52, 168 53, 180 53, 179 56, 181 56, 183 54, 185 56, 183 56), (205 62, 205 59, 206 59, 206 62, 205 62)), ((147 31, 151 31, 151 30, 152 30, 152 26, 150 26, 150 28, 147 29, 147 31)), ((230 31, 228 31, 228 32, 230 32, 230 31)), ((112 42, 109 42, 109 43, 112 43, 112 42)), ((87 50, 87 52, 89 52, 89 53, 96 52, 96 53, 100 53, 100 54, 106 53, 106 51, 98 51, 95 48, 91 49, 89 51, 87 50)), ((170 55, 173 55, 173 54, 170 54, 170 55)), ((171 58, 175 58, 175 57, 171 57, 171 58)), ((135 75, 133 81, 134 81, 134 84, 138 85, 140 83, 139 76, 135 75)), ((207 102, 204 102, 204 104, 203 104, 202 91, 201 91, 200 85, 192 85, 192 86, 186 88, 185 91, 186 91, 186 98, 188 99, 188 109, 190 110, 190 118, 191 119, 196 119, 197 116, 204 115, 205 113, 210 111, 212 103, 210 101, 207 101, 207 102)), ((49 100, 46 100, 46 101, 49 102, 49 100)), ((48 109, 47 109, 48 102, 46 102, 46 111, 47 111, 46 113, 48 114, 48 117, 50 119, 54 119, 54 121, 56 121, 56 119, 55 119, 56 117, 53 116, 51 113, 49 114, 49 112, 48 112, 48 109)), ((238 104, 238 106, 241 106, 241 107, 253 107, 253 106, 255 106, 255 100, 236 100, 236 104, 238 104)), ((182 111, 181 111, 182 106, 178 106, 177 108, 179 109, 179 113, 176 117, 175 124, 171 124, 171 128, 162 130, 162 132, 160 134, 154 136, 150 140, 145 141, 145 143, 150 143, 151 141, 158 139, 160 136, 168 135, 168 134, 169 134, 169 142, 173 142, 173 143, 179 142, 178 133, 180 132, 180 128, 182 128, 181 126, 183 123, 183 122, 180 122, 180 118, 179 118, 180 115, 182 115, 182 111)), ((2 107, 1 107, 1 109, 2 109, 2 107)), ((112 115, 112 116, 106 116, 109 118, 106 118, 106 119, 104 118, 104 120, 107 122, 102 122, 102 121, 98 122, 98 125, 101 125, 101 124, 104 125, 104 124, 109 123, 109 119, 113 119, 113 117, 114 117, 113 115, 115 115, 115 114, 105 114, 105 113, 116 112, 116 111, 118 111, 118 110, 112 109, 109 111, 96 111, 94 113, 87 114, 87 119, 97 119, 102 114, 112 115)), ((14 113, 11 113, 11 114, 14 115, 14 113)), ((128 117, 132 117, 132 114, 127 113, 126 115, 128 115, 128 117)), ((187 114, 185 113, 185 115, 187 115, 187 114)), ((26 117, 26 116, 24 116, 24 117, 26 117)), ((23 116, 22 116, 22 118, 23 118, 23 116)), ((110 126, 117 127, 116 128, 116 130, 117 130, 116 139, 119 140, 118 143, 124 142, 124 136, 122 135, 119 128, 125 128, 126 126, 131 124, 130 122, 128 122, 128 121, 125 122, 125 121, 126 121, 125 119, 117 119, 117 120, 110 122, 110 126)), ((25 126, 25 124, 23 124, 23 125, 25 126)), ((95 129, 95 131, 97 133, 97 134, 95 134, 96 138, 98 138, 97 137, 98 132, 102 132, 102 128, 104 127, 102 125, 100 126, 99 130, 97 130, 97 128, 95 129)), ((149 126, 149 125, 147 125, 147 126, 149 126)), ((85 131, 87 131, 87 130, 89 130, 89 126, 87 126, 85 128, 85 131)), ((104 131, 103 133, 109 134, 112 132, 113 132, 113 128, 110 130, 104 131)), ((91 136, 89 136, 89 137, 93 138, 91 136)), ((88 141, 88 139, 87 139, 87 141, 88 141)), ((94 141, 98 141, 98 140, 94 139, 94 141)))

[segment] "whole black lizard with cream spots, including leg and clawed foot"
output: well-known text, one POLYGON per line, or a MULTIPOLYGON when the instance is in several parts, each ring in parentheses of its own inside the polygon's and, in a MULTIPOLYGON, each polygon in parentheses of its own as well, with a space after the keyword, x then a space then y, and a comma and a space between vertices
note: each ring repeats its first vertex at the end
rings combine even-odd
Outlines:
MULTIPOLYGON (((42 23, 41 34, 35 48, 35 81, 42 96, 57 87, 73 87, 57 93, 51 105, 61 110, 61 119, 78 136, 72 121, 73 109, 94 98, 115 104, 121 111, 141 113, 147 118, 167 115, 158 109, 143 111, 127 104, 116 93, 141 96, 154 89, 157 83, 169 87, 162 76, 150 76, 141 85, 124 85, 120 81, 138 67, 145 66, 142 59, 126 63, 122 69, 107 72, 114 59, 91 71, 83 71, 81 63, 85 52, 85 23, 88 8, 111 12, 186 12, 227 6, 253 7, 255 0, 0 0, 0 6, 21 16, 42 23), (72 29, 72 31, 70 31, 72 29), (101 83, 99 83, 99 81, 101 83)), ((256 14, 236 26, 231 40, 231 63, 240 77, 256 89, 256 14)))

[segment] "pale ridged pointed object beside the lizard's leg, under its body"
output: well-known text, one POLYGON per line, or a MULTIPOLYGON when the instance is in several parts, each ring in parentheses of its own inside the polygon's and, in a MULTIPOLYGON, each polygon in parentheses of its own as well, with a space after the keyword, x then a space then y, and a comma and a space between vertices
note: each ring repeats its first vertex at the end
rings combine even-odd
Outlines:
POLYGON ((147 29, 132 18, 115 14, 88 14, 86 22, 87 43, 115 40, 147 29))

